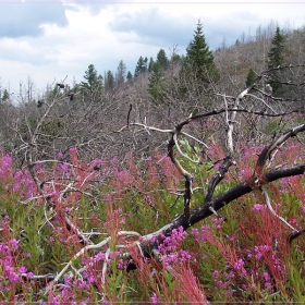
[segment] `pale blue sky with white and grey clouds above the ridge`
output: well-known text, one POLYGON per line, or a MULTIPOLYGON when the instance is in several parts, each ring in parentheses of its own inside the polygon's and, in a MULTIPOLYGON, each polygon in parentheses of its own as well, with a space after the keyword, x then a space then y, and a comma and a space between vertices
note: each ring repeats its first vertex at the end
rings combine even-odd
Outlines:
POLYGON ((281 27, 305 25, 303 1, 101 1, 0 0, 0 85, 19 91, 28 77, 36 93, 66 77, 83 81, 94 64, 115 72, 123 60, 132 73, 139 56, 180 54, 204 24, 211 49, 228 45, 271 21, 281 27))

